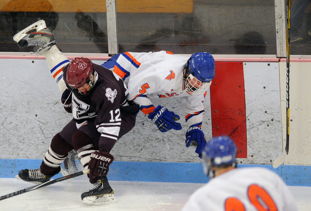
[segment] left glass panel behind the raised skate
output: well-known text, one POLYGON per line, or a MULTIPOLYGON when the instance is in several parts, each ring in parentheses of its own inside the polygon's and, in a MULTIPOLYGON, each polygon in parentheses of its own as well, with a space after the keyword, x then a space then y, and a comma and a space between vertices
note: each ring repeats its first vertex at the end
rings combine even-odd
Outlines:
POLYGON ((19 48, 13 36, 39 20, 45 20, 64 53, 108 53, 106 4, 95 0, 0 1, 0 51, 36 51, 19 48))

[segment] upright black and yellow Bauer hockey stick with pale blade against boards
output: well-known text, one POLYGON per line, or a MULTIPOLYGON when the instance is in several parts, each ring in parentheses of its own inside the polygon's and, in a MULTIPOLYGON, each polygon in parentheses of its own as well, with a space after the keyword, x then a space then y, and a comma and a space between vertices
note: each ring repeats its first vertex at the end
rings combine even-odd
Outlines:
POLYGON ((273 161, 274 168, 284 163, 290 143, 290 0, 287 1, 287 32, 286 32, 286 145, 285 152, 273 161))

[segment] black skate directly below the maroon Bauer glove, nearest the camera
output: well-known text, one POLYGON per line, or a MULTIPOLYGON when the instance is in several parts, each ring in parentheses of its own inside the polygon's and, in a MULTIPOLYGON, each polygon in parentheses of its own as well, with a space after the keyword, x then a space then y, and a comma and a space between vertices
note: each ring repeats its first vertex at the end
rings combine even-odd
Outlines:
POLYGON ((84 204, 100 205, 117 201, 113 195, 113 190, 110 187, 106 176, 100 177, 93 185, 93 189, 81 194, 81 199, 83 200, 84 204))

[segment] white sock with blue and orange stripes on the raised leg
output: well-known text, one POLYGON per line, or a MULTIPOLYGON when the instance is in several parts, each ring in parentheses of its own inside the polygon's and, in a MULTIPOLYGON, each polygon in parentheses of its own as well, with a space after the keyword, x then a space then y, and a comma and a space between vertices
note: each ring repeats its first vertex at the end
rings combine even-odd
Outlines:
POLYGON ((63 94, 67 89, 63 79, 63 67, 65 67, 70 61, 63 55, 56 45, 53 45, 44 55, 51 74, 56 81, 60 92, 63 94))

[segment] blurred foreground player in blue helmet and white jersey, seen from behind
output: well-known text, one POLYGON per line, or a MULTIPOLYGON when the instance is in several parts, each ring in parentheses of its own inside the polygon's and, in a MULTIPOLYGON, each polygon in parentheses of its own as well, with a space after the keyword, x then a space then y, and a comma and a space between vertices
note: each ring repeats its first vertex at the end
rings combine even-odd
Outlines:
POLYGON ((236 168, 237 148, 228 136, 211 139, 202 152, 210 181, 196 190, 182 211, 297 211, 284 181, 263 167, 236 168))

